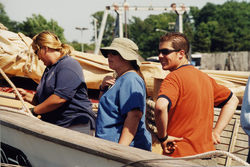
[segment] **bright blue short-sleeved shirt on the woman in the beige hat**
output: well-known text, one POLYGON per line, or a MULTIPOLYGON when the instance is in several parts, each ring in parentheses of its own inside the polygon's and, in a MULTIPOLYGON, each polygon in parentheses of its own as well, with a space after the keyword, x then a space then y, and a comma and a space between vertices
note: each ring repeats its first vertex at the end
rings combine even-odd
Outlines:
POLYGON ((134 108, 139 108, 143 116, 130 146, 151 151, 151 134, 145 124, 146 88, 135 72, 122 75, 100 98, 96 136, 118 143, 127 113, 134 108))

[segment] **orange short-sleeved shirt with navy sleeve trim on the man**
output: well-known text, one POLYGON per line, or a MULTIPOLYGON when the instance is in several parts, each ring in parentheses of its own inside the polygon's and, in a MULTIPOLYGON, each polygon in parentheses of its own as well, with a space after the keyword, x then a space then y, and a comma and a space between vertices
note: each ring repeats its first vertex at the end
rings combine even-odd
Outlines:
POLYGON ((212 140, 214 106, 224 106, 232 92, 202 71, 184 65, 162 82, 158 97, 169 100, 167 134, 183 137, 172 157, 215 150, 212 140))

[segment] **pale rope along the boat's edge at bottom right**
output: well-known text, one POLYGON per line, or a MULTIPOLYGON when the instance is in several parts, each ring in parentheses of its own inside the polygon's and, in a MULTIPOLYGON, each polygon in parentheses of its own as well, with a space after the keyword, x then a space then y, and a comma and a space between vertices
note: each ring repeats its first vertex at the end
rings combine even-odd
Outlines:
POLYGON ((140 161, 135 161, 135 162, 132 162, 132 163, 129 163, 129 164, 126 164, 122 167, 126 167, 126 166, 130 166, 130 165, 134 165, 134 164, 137 164, 137 163, 140 163, 140 162, 151 162, 151 161, 160 161, 160 160, 190 160, 190 159, 203 159, 203 158, 208 158, 209 156, 212 157, 212 156, 218 156, 218 155, 225 155, 225 156, 228 156, 232 159, 234 159, 235 161, 243 164, 244 166, 250 166, 249 163, 243 161, 242 159, 236 157, 235 155, 229 153, 229 152, 226 152, 226 151, 221 151, 221 150, 216 150, 216 151, 209 151, 209 152, 206 152, 206 153, 202 153, 202 154, 197 154, 197 155, 192 155, 192 156, 187 156, 187 157, 179 157, 179 158, 161 158, 161 159, 146 159, 146 160, 140 160, 140 161))

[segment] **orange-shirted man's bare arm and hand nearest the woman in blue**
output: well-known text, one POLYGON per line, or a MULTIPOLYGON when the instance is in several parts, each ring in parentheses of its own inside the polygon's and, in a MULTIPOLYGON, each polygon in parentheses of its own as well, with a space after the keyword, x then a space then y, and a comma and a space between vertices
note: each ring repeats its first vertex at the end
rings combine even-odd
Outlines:
MULTIPOLYGON (((158 138, 164 138, 167 135, 168 105, 169 101, 166 98, 158 98, 155 104, 155 125, 158 131, 158 138)), ((167 140, 161 142, 163 152, 172 153, 177 147, 175 141, 180 140, 182 138, 168 136, 167 140)))

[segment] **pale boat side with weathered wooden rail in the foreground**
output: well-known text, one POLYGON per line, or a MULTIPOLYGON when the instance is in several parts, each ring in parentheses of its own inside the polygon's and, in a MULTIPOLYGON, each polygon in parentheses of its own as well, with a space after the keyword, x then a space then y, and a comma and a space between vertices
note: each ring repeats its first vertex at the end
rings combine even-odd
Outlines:
MULTIPOLYGON (((0 110, 0 115, 1 142, 21 151, 30 166, 121 167, 148 159, 163 160, 142 161, 136 166, 175 166, 177 162, 166 160, 167 156, 99 139, 25 115, 3 110, 0 110)), ((178 160, 177 164, 186 166, 189 163, 194 165, 184 160, 178 160)))

